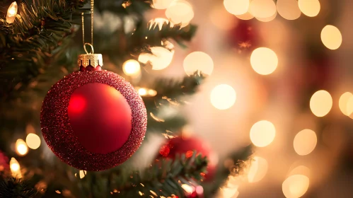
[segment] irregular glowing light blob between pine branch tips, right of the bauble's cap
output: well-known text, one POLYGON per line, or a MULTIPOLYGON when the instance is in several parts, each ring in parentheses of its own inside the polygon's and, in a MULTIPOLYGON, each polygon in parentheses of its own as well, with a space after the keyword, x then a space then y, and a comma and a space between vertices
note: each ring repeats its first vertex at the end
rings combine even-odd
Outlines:
POLYGON ((139 62, 151 64, 152 69, 166 69, 173 60, 174 50, 167 50, 164 47, 151 47, 152 54, 142 53, 139 55, 139 62))

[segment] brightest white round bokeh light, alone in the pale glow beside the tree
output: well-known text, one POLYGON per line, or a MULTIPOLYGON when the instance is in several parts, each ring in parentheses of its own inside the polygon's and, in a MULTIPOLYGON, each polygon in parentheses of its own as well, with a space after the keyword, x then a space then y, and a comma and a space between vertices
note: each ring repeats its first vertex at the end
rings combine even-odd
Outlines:
POLYGON ((226 84, 216 86, 211 92, 211 103, 216 109, 226 110, 236 103, 236 91, 226 84))

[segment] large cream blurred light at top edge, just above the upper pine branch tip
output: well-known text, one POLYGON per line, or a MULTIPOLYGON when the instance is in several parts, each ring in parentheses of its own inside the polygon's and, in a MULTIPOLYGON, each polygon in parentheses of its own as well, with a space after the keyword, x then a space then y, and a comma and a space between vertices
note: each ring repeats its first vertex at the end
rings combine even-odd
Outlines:
POLYGON ((174 0, 166 9, 166 17, 175 24, 181 23, 185 27, 192 18, 194 11, 189 2, 185 0, 174 0))

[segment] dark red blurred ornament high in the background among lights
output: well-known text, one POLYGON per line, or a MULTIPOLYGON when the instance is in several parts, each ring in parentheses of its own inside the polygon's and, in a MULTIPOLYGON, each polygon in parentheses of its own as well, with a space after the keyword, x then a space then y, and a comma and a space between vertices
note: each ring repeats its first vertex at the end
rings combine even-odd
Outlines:
POLYGON ((229 32, 231 43, 238 49, 238 52, 253 52, 259 47, 260 33, 252 21, 239 20, 229 32))

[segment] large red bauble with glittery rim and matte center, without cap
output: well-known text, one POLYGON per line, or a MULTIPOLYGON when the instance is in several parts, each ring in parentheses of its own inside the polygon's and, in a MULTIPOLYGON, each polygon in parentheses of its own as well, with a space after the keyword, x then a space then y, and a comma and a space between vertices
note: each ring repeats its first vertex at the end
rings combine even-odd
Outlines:
POLYGON ((147 114, 132 85, 110 71, 79 71, 54 84, 42 104, 42 134, 65 163, 106 170, 144 139, 147 114))

